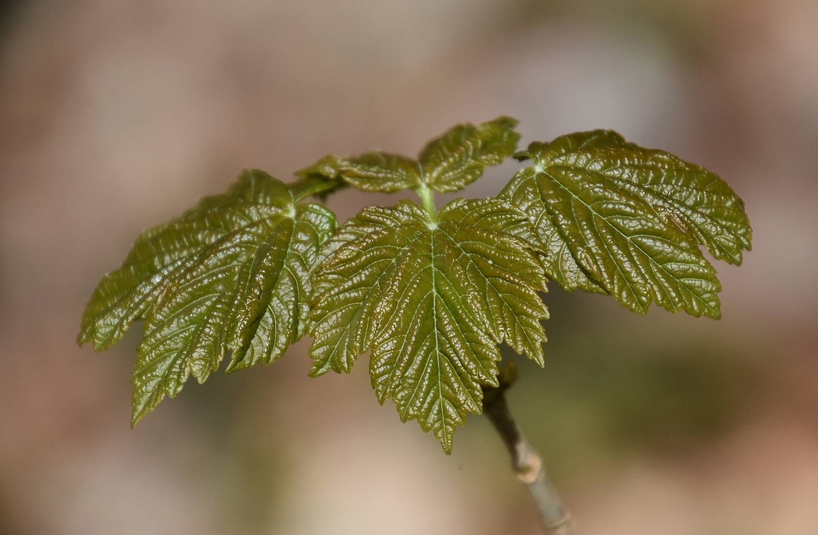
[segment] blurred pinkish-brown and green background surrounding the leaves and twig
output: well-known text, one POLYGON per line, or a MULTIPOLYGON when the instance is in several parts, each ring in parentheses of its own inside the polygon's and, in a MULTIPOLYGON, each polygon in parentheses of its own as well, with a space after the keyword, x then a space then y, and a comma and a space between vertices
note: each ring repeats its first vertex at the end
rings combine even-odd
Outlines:
POLYGON ((521 146, 612 128, 705 165, 755 232, 717 264, 723 320, 552 284, 545 369, 505 354, 580 533, 818 533, 815 0, 0 5, 0 533, 538 533, 488 421, 445 456, 378 405, 365 358, 308 379, 305 339, 132 431, 139 325, 105 354, 74 342, 137 233, 243 168, 415 154, 502 114, 521 146))

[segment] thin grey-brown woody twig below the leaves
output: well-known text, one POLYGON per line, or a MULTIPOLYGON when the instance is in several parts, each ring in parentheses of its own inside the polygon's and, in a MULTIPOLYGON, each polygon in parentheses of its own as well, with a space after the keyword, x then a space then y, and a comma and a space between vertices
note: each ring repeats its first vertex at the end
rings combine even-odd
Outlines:
POLYGON ((540 511, 546 533, 551 535, 575 535, 573 520, 560 501, 560 496, 546 474, 542 458, 528 444, 511 417, 506 395, 517 376, 514 361, 502 370, 500 388, 483 387, 483 414, 492 420, 511 454, 511 466, 517 478, 528 488, 531 499, 540 511))

